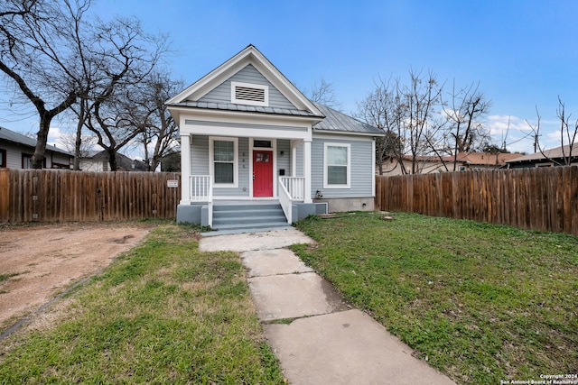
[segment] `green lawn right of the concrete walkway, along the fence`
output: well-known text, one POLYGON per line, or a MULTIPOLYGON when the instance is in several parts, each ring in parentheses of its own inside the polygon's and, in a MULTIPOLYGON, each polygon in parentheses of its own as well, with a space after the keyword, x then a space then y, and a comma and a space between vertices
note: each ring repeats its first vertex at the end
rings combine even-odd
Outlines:
POLYGON ((422 215, 309 218, 294 251, 459 383, 578 372, 578 239, 422 215))

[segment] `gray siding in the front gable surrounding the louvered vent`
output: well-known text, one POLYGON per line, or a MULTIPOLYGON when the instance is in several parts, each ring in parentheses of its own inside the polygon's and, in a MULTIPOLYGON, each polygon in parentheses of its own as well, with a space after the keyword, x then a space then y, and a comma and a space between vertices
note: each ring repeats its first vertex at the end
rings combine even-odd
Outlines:
POLYGON ((295 106, 251 64, 248 64, 247 67, 238 71, 238 73, 225 80, 218 87, 215 87, 207 95, 202 96, 199 101, 208 103, 231 103, 231 81, 268 86, 270 107, 296 109, 295 106))

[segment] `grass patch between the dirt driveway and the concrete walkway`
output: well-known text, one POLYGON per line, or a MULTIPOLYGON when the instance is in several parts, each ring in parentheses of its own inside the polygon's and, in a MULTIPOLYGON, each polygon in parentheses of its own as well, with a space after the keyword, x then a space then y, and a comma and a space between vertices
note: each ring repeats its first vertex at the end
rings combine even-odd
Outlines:
POLYGON ((234 252, 159 225, 0 350, 0 383, 284 383, 234 252))

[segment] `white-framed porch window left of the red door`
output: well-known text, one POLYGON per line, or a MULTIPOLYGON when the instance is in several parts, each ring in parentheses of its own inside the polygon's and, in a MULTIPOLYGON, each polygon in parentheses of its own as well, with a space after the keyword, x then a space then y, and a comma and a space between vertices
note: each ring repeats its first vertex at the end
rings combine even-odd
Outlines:
POLYGON ((237 138, 213 138, 210 141, 211 169, 215 185, 235 187, 238 183, 237 138))

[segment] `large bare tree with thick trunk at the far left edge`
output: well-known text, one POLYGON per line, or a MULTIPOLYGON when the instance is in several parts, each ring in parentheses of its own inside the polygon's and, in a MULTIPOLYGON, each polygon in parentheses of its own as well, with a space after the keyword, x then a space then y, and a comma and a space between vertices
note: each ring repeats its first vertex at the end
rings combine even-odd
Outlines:
POLYGON ((0 70, 39 115, 32 167, 42 168, 52 119, 77 99, 77 51, 70 18, 81 20, 89 0, 7 0, 0 5, 0 70))

